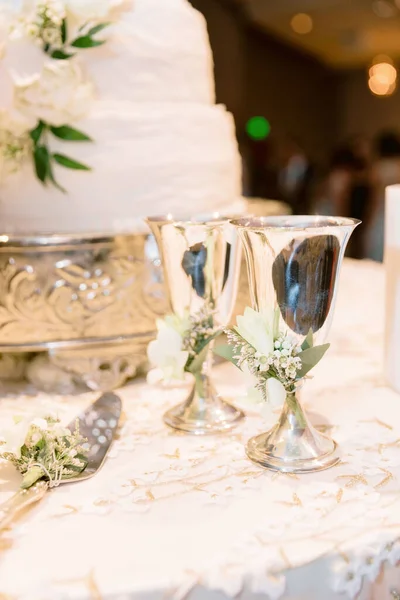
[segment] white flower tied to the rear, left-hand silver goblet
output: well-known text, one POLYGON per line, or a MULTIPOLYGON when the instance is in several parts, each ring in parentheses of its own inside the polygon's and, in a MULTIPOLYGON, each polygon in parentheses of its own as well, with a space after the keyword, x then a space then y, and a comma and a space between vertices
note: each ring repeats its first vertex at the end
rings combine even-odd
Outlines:
POLYGON ((189 353, 182 349, 182 336, 164 321, 159 321, 157 326, 157 338, 150 342, 147 349, 149 361, 155 367, 148 373, 148 382, 155 384, 184 379, 189 353))

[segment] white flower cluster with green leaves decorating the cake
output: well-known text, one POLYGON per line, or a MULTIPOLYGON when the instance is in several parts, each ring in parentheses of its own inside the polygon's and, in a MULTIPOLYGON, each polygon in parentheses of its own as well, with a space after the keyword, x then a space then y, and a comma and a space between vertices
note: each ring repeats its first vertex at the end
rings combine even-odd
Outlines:
POLYGON ((110 24, 105 17, 122 4, 121 0, 24 0, 18 7, 0 5, 0 118, 7 123, 0 134, 0 178, 17 170, 29 154, 38 179, 63 192, 54 175, 55 163, 90 170, 52 152, 51 138, 92 141, 70 125, 90 112, 95 96, 79 54, 105 43, 98 38, 110 24))

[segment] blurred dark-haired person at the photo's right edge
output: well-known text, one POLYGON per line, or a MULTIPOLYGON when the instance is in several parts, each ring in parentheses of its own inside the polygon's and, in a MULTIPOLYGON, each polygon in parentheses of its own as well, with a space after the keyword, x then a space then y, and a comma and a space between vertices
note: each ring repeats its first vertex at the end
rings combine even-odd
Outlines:
POLYGON ((365 256, 383 260, 385 188, 400 183, 400 136, 393 131, 381 133, 376 140, 373 167, 374 194, 365 216, 365 256))

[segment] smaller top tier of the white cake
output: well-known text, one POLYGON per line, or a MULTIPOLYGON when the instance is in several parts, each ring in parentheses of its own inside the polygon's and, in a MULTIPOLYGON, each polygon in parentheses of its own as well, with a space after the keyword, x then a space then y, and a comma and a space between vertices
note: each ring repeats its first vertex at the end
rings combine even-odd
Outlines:
POLYGON ((207 25, 187 0, 135 0, 109 33, 82 54, 101 99, 215 102, 207 25))

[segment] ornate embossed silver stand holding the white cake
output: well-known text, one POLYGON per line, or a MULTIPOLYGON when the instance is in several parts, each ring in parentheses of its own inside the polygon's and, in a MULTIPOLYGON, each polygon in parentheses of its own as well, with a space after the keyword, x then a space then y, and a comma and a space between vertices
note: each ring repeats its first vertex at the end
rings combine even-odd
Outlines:
POLYGON ((121 386, 167 309, 151 236, 0 236, 0 379, 121 386))

